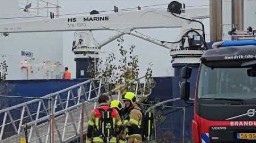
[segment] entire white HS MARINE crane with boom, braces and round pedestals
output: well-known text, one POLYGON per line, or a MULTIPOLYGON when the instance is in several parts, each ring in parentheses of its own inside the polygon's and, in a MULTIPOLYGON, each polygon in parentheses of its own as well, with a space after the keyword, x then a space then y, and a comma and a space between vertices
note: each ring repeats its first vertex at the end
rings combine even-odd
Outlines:
MULTIPOLYGON (((130 34, 170 49, 170 55, 173 58, 172 64, 183 63, 184 59, 189 63, 197 63, 205 47, 204 26, 200 21, 191 19, 205 18, 209 18, 209 8, 183 9, 181 3, 174 1, 168 5, 167 10, 151 8, 107 14, 2 23, 0 24, 0 33, 7 35, 7 33, 19 32, 76 31, 72 51, 76 55, 75 61, 78 75, 79 71, 87 71, 88 65, 92 61, 94 61, 94 65, 96 64, 102 46, 121 37, 123 34, 130 34), (135 31, 135 29, 150 28, 180 28, 180 34, 177 36, 178 40, 176 42, 166 42, 135 31), (102 42, 96 42, 92 31, 100 30, 112 30, 117 33, 102 42)), ((77 78, 87 78, 87 76, 78 75, 77 78)))

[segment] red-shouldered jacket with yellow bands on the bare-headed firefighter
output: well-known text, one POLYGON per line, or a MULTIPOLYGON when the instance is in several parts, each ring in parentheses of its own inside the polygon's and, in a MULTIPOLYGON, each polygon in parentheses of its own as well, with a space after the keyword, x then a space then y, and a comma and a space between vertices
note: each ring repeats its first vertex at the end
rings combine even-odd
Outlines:
MULTIPOLYGON (((100 103, 99 108, 108 110, 110 107, 108 106, 108 103, 100 103)), ((118 114, 118 111, 113 109, 112 111, 112 118, 113 118, 113 124, 115 128, 118 128, 120 125, 122 125, 121 118, 118 114)), ((89 121, 88 121, 88 133, 86 137, 86 142, 102 142, 102 138, 100 138, 101 134, 98 132, 98 121, 101 118, 101 113, 94 109, 92 110, 91 115, 89 116, 89 121)), ((113 141, 110 142, 116 142, 116 137, 113 137, 113 141)))

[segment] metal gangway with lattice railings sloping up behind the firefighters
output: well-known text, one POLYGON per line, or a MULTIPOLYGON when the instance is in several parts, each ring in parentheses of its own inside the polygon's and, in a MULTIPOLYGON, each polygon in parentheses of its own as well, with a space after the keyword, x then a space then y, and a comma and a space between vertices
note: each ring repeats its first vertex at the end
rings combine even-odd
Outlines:
MULTIPOLYGON (((142 101, 151 94, 145 76, 106 92, 103 79, 87 80, 69 88, 0 110, 1 143, 71 142, 84 138, 90 111, 100 94, 120 99, 123 88, 132 86, 142 101)), ((82 141, 82 140, 81 140, 82 141)))

